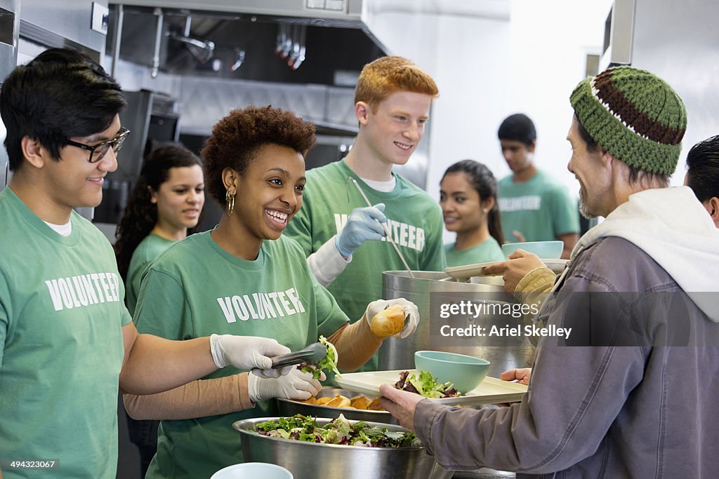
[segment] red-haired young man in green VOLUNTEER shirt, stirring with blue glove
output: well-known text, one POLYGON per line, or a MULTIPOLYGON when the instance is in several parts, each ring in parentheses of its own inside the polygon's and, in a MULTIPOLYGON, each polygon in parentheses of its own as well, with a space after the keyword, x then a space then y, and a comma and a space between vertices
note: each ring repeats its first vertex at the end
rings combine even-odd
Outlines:
MULTIPOLYGON (((439 205, 392 172, 417 148, 438 93, 434 80, 406 58, 365 65, 354 90, 359 132, 352 149, 307 172, 302 209, 285 234, 301 244, 314 276, 350 318, 383 296, 383 271, 405 269, 385 228, 411 269, 445 267, 439 205), (352 180, 374 206, 365 206, 352 180)), ((377 363, 375 355, 363 370, 376 371, 377 363)))

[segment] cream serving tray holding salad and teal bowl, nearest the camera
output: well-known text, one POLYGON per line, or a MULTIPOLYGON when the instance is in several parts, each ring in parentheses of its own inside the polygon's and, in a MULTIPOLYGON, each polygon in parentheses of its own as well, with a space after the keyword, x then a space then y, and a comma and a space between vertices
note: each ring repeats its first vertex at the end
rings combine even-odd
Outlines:
MULTIPOLYGON (((357 391, 362 394, 380 394, 380 385, 394 384, 399 381, 400 373, 409 371, 416 373, 416 369, 398 369, 396 371, 370 371, 366 373, 343 373, 336 376, 334 381, 342 388, 357 391)), ((475 389, 456 398, 429 399, 440 404, 498 404, 503 402, 521 401, 527 386, 498 378, 487 376, 475 389)))

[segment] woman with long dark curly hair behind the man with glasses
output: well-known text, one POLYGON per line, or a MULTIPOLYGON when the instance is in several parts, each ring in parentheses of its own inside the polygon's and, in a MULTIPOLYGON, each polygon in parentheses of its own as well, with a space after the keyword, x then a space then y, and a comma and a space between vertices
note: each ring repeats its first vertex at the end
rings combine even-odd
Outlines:
MULTIPOLYGON (((116 233, 117 268, 127 287, 130 314, 137 303, 142 271, 175 241, 194 233, 204 203, 201 162, 193 152, 171 145, 147 155, 116 233)), ((157 451, 158 424, 127 418, 143 478, 157 451)))

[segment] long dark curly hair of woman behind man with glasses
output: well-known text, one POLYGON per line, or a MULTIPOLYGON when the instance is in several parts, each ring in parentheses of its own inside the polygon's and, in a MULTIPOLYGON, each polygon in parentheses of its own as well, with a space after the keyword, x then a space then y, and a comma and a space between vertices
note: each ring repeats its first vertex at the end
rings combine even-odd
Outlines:
MULTIPOLYGON (((150 201, 150 188, 159 190, 160 185, 170 177, 170 168, 191 167, 195 164, 201 165, 200 159, 180 145, 158 148, 145 157, 139 178, 127 200, 125 214, 115 232, 115 257, 123 281, 127 281, 127 269, 135 248, 157 224, 157 205, 150 201)), ((195 230, 190 228, 188 235, 195 233, 195 230)))

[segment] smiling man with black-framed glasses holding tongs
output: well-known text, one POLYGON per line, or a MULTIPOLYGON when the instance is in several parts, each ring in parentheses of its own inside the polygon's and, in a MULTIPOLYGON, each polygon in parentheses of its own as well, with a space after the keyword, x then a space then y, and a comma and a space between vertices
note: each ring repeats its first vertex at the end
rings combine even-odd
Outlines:
POLYGON ((0 90, 14 172, 0 192, 0 477, 113 478, 119 386, 152 394, 224 366, 277 376, 267 338, 139 335, 95 207, 129 131, 119 85, 89 57, 47 50, 0 90), (52 473, 37 469, 52 468, 52 473))

